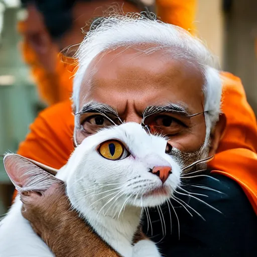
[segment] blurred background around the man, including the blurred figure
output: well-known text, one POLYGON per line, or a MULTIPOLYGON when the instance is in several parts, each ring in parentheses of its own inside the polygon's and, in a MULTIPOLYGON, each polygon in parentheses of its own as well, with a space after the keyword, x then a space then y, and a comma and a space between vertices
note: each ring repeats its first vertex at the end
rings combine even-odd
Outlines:
MULTIPOLYGON (((72 73, 66 70, 72 67, 60 62, 58 52, 81 42, 80 28, 93 17, 104 14, 106 5, 113 2, 116 3, 0 0, 0 155, 16 152, 37 114, 70 96, 71 83, 66 82, 72 73)), ((123 5, 118 2, 119 7, 123 5)), ((136 7, 140 11, 157 12, 159 16, 161 1, 125 2, 129 2, 123 6, 128 12, 136 7)), ((194 33, 219 57, 221 69, 241 78, 256 114, 257 1, 170 0, 170 3, 171 7, 160 18, 168 21, 170 15, 177 17, 177 21, 193 19, 194 33)), ((10 206, 13 191, 0 158, 0 215, 10 206)))

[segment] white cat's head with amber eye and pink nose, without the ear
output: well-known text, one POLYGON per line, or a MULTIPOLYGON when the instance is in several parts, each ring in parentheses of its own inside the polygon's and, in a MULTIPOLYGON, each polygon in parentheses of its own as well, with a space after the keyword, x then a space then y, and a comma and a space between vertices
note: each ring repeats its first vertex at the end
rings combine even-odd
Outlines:
POLYGON ((180 183, 181 167, 169 155, 171 148, 140 124, 124 123, 86 138, 58 175, 80 212, 88 202, 92 208, 104 206, 105 214, 122 205, 156 206, 180 183))

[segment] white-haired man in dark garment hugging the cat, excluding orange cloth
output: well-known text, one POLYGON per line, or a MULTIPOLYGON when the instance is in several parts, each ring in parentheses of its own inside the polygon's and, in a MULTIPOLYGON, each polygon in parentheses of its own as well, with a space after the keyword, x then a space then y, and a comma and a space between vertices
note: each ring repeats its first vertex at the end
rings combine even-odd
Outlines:
MULTIPOLYGON (((190 166, 215 154, 225 125, 221 79, 205 47, 172 25, 113 17, 93 24, 78 59, 75 145, 110 125, 109 119, 134 121, 168 137, 174 155, 189 166, 171 217, 168 206, 162 207, 163 216, 150 212, 152 239, 163 254, 255 256, 257 220, 242 189, 228 177, 190 166)), ((62 187, 22 200, 24 216, 56 256, 90 256, 83 251, 83 222, 69 211, 62 187)))

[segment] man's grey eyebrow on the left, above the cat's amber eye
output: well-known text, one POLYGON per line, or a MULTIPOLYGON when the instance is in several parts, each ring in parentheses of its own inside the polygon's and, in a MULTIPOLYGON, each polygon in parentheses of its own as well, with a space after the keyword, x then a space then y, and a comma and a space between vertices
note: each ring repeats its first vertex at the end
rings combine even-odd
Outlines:
POLYGON ((75 115, 83 114, 83 113, 87 113, 87 112, 93 112, 93 113, 99 112, 99 113, 103 113, 103 114, 109 113, 109 114, 113 114, 118 117, 118 113, 113 107, 111 107, 108 104, 98 103, 98 102, 89 102, 89 103, 84 104, 82 106, 81 110, 79 112, 75 113, 75 115))

